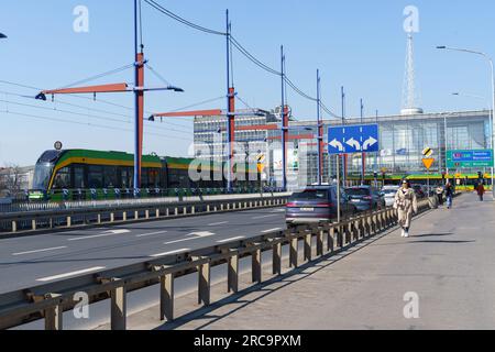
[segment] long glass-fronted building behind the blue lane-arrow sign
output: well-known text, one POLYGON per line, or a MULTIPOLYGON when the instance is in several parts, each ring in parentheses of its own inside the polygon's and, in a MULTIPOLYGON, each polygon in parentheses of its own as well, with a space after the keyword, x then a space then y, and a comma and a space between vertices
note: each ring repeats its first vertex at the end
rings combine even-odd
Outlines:
MULTIPOLYGON (((341 120, 326 120, 323 141, 328 141, 328 128, 341 125, 341 120)), ((487 150, 491 148, 490 111, 464 111, 422 113, 417 116, 388 116, 377 118, 345 119, 345 124, 377 123, 380 128, 380 153, 365 156, 366 175, 386 169, 389 174, 410 175, 425 173, 422 151, 427 147, 433 151, 436 163, 431 172, 447 172, 446 152, 451 150, 487 150)), ((293 125, 310 127, 316 134, 317 124, 314 121, 298 121, 293 125)), ((292 133, 300 129, 293 130, 292 133)), ((317 144, 315 140, 301 140, 299 147, 306 145, 308 153, 301 164, 308 168, 309 183, 317 182, 317 144)), ((323 180, 328 182, 337 175, 336 156, 323 155, 323 180)), ((348 155, 346 173, 350 176, 361 175, 361 154, 348 155)), ((449 170, 476 173, 479 169, 449 170)), ((486 172, 481 169, 481 172, 486 172)), ((300 185, 301 186, 301 185, 300 185)))

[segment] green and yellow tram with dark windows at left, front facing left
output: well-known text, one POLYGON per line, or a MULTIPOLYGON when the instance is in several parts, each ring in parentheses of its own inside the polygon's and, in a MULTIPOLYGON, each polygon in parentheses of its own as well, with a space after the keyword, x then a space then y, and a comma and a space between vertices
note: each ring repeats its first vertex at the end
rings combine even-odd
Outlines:
MULTIPOLYGON (((143 155, 141 196, 190 196, 196 189, 207 194, 224 190, 227 182, 224 177, 218 177, 218 173, 222 175, 223 170, 221 163, 210 163, 208 169, 202 169, 205 164, 201 164, 198 172, 204 177, 193 182, 189 178, 191 162, 193 158, 143 155), (216 180, 218 178, 220 180, 216 180)), ((261 175, 256 165, 238 164, 234 172, 242 176, 239 177, 241 180, 234 180, 237 191, 249 193, 260 187, 261 175)), ((46 151, 36 163, 29 199, 58 201, 133 197, 133 154, 90 150, 46 151)))

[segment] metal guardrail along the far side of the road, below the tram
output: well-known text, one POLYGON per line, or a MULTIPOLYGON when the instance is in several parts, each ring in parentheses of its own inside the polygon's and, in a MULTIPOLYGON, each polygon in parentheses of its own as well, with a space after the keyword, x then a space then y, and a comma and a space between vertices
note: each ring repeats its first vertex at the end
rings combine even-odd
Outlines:
POLYGON ((70 229, 75 226, 113 224, 127 221, 158 220, 221 211, 237 211, 286 204, 289 194, 210 196, 208 200, 141 201, 98 205, 91 208, 53 209, 0 213, 0 234, 70 229), (217 198, 218 197, 218 198, 217 198), (2 230, 3 229, 3 230, 2 230))

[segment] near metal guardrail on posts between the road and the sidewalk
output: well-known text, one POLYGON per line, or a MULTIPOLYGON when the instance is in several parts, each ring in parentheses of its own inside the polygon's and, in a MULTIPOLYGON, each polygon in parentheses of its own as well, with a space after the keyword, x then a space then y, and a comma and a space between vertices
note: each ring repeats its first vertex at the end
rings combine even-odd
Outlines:
MULTIPOLYGON (((429 209, 428 201, 419 202, 419 211, 429 209)), ((314 256, 312 240, 316 238, 316 255, 330 255, 334 251, 375 235, 397 222, 396 211, 388 208, 362 213, 340 223, 299 227, 275 231, 242 241, 232 241, 187 253, 114 270, 87 274, 79 277, 45 284, 0 295, 0 329, 13 328, 44 319, 45 329, 63 329, 63 312, 79 302, 76 294, 88 295, 89 304, 110 299, 112 330, 127 327, 127 294, 152 285, 160 286, 160 319, 172 321, 174 316, 174 279, 198 273, 198 304, 211 304, 211 267, 228 264, 227 290, 239 292, 239 260, 252 258, 252 282, 260 284, 262 277, 262 252, 273 252, 273 274, 282 275, 282 248, 289 246, 289 266, 298 267, 299 241, 304 241, 304 258, 314 256)))

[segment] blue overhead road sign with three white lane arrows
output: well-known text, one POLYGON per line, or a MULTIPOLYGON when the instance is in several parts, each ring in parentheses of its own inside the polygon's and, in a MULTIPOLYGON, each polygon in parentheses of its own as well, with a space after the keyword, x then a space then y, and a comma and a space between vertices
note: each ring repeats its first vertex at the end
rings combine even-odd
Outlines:
POLYGON ((343 125, 328 129, 328 153, 376 153, 378 152, 378 125, 343 125))

